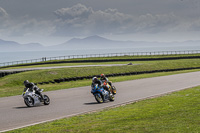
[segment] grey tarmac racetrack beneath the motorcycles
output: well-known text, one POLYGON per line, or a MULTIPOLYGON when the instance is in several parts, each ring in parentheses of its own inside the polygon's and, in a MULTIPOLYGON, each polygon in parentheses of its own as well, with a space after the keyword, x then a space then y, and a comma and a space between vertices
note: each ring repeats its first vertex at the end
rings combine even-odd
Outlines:
POLYGON ((0 98, 0 132, 195 87, 200 85, 200 71, 113 84, 115 101, 103 104, 97 104, 90 86, 44 92, 51 99, 48 106, 28 108, 20 95, 0 98))

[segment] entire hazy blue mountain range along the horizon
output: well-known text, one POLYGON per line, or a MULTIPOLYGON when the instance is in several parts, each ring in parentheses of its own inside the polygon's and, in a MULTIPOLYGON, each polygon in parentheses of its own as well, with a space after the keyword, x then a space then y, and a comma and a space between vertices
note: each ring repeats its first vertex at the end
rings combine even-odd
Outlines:
POLYGON ((0 52, 3 51, 37 51, 37 50, 70 50, 70 49, 106 49, 134 47, 163 46, 200 46, 200 40, 185 42, 145 42, 145 41, 115 41, 100 36, 90 36, 83 39, 73 38, 62 44, 44 46, 39 43, 20 44, 14 41, 0 39, 0 52))

